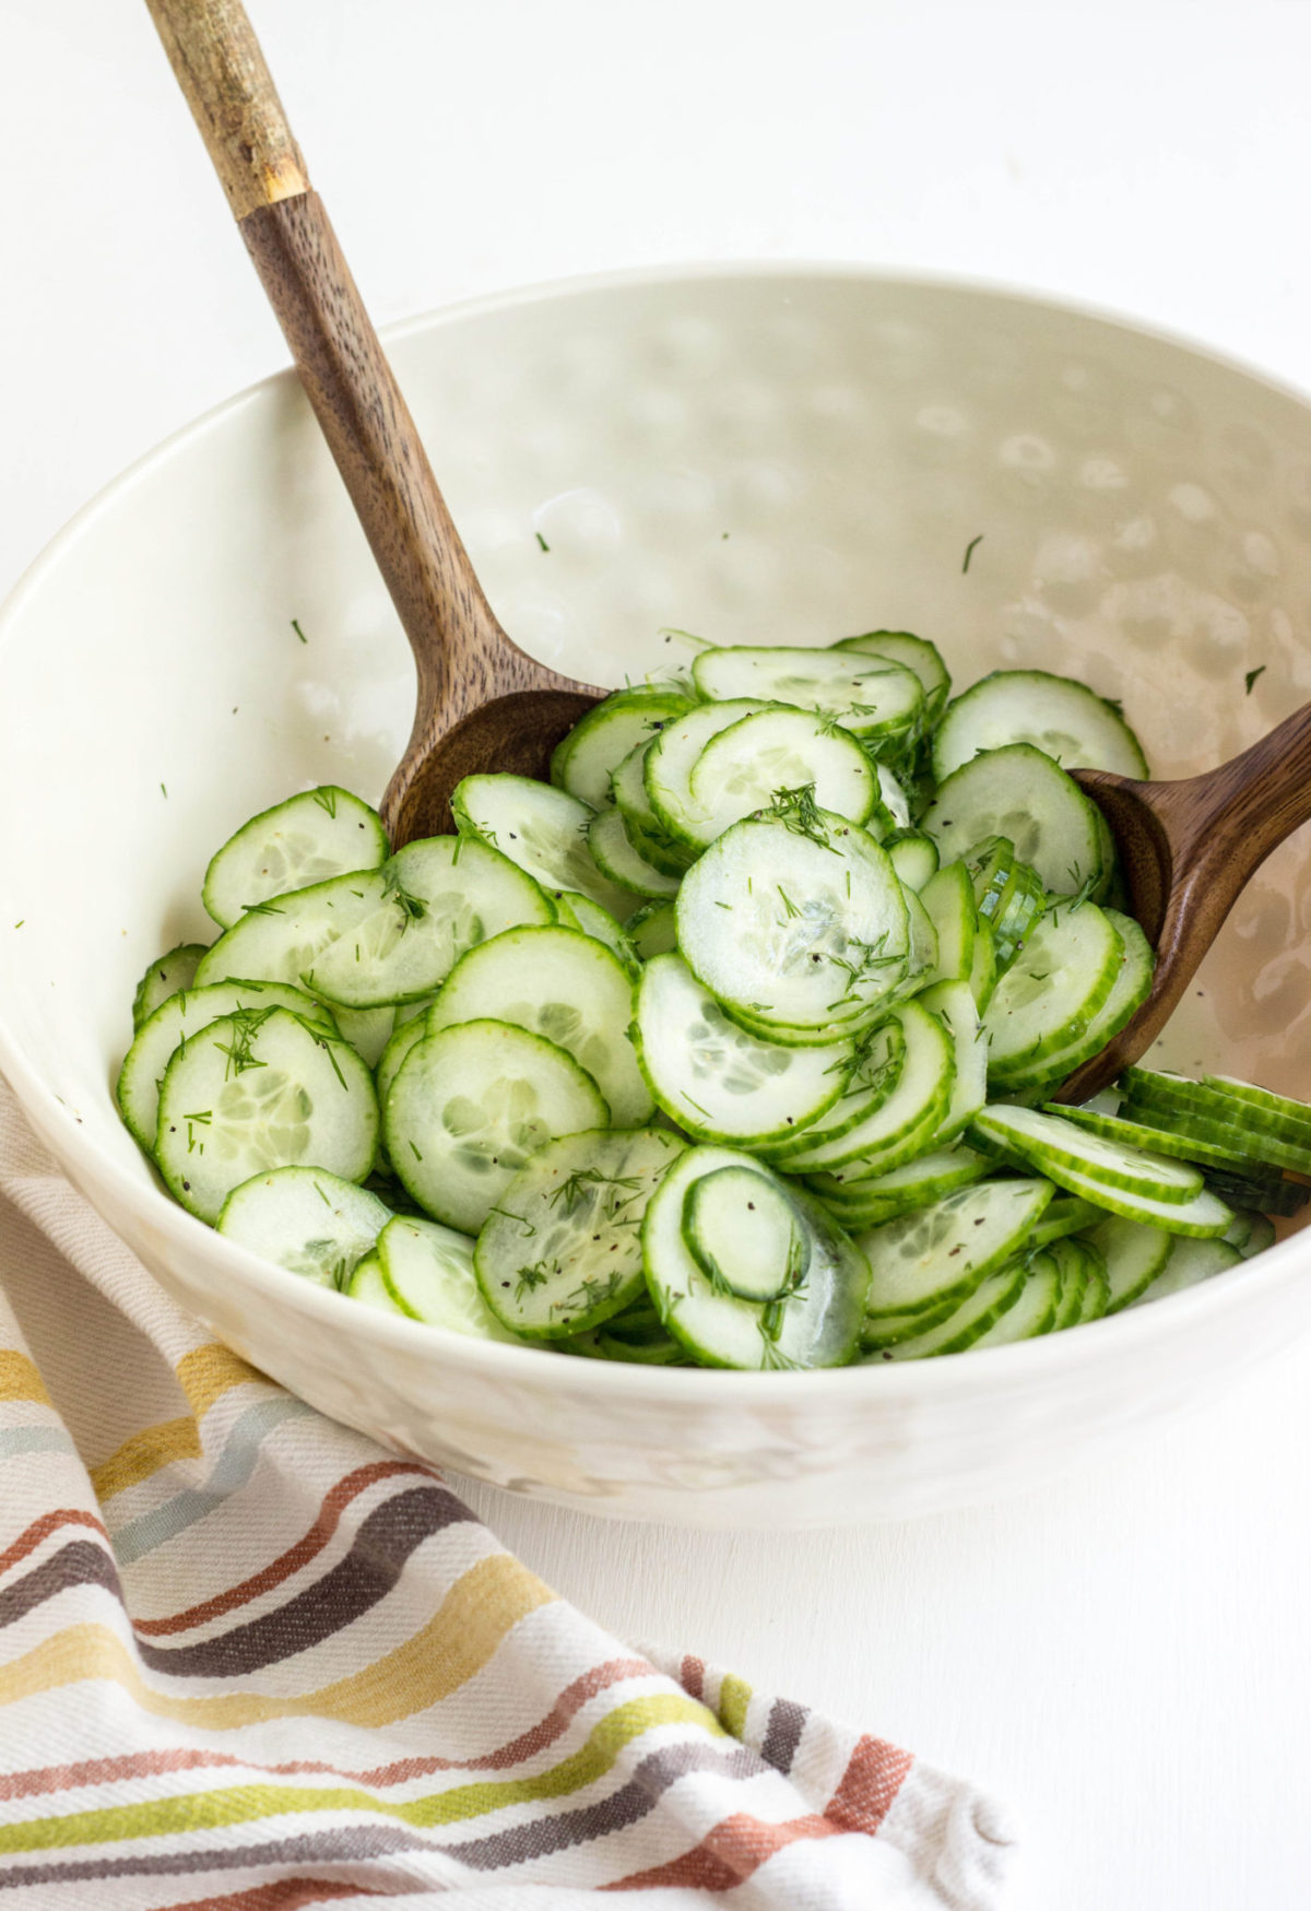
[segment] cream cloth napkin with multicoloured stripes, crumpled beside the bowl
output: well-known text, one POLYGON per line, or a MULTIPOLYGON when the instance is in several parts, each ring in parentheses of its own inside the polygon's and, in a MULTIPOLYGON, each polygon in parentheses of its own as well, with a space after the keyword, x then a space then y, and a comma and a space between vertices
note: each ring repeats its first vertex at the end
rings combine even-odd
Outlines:
POLYGON ((15 1911, 999 1903, 990 1798, 554 1598, 174 1307, 4 1082, 0 1286, 15 1911))

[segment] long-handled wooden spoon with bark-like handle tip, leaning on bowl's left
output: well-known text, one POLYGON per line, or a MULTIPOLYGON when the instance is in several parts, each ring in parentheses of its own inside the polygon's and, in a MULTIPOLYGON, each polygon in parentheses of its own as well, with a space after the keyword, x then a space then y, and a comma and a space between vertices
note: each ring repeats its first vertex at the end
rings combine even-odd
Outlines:
POLYGON ((241 0, 147 6, 415 652, 415 726, 382 822, 396 847, 438 835, 462 776, 545 776, 606 692, 535 663, 497 623, 241 0))

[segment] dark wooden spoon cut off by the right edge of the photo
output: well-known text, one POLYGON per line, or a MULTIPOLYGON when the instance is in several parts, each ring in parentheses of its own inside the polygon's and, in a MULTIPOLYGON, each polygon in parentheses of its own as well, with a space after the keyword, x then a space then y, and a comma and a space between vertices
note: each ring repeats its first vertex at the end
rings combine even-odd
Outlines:
POLYGON ((1311 818, 1311 703, 1240 757, 1179 784, 1074 770, 1120 850, 1133 913, 1156 946, 1152 992, 1057 1101, 1087 1101, 1162 1032, 1252 875, 1311 818))

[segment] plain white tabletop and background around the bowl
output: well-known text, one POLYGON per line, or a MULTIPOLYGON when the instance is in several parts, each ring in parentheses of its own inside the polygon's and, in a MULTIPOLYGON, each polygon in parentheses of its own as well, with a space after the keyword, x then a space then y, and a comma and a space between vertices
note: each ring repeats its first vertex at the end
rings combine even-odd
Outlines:
MULTIPOLYGON (((657 260, 1028 285, 1311 388, 1307 0, 250 0, 380 321, 657 260)), ((285 363, 141 0, 4 0, 0 587, 285 363)), ((996 1508, 686 1535, 470 1496, 619 1634, 973 1773, 1017 1911, 1311 1903, 1311 1345, 996 1508)))

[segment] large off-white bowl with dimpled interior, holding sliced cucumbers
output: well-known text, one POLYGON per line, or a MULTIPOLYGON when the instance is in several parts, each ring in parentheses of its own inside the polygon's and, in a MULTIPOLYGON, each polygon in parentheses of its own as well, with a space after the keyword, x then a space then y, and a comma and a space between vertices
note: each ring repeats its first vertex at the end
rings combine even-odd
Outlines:
MULTIPOLYGON (((661 663, 661 625, 726 642, 912 629, 959 684, 1043 665, 1124 698, 1166 776, 1311 694, 1311 409, 1177 342, 959 285, 763 266, 497 298, 409 325, 392 354, 505 625, 577 676, 661 663)), ((390 1321, 214 1236, 115 1114, 132 988, 157 952, 208 936, 201 871, 252 810, 329 778, 378 797, 411 703, 405 642, 290 375, 111 485, 0 623, 0 1066, 76 1187, 247 1359, 524 1492, 822 1525, 1091 1460, 1303 1330, 1294 1238, 1158 1307, 994 1353, 615 1368, 390 1321)), ((1160 1059, 1307 1093, 1309 912, 1292 843, 1160 1059)))

